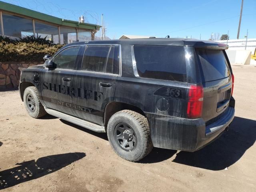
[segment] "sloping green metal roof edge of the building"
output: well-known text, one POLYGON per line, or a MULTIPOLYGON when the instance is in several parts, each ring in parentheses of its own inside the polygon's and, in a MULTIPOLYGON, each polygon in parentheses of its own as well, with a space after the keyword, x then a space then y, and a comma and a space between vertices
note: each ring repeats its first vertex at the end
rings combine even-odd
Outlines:
POLYGON ((14 13, 14 14, 19 14, 20 16, 26 16, 26 17, 37 19, 37 20, 42 20, 44 22, 56 24, 59 26, 74 27, 74 28, 87 29, 87 30, 99 30, 101 27, 95 24, 78 23, 78 21, 61 19, 58 17, 50 16, 41 12, 37 12, 31 9, 16 6, 16 5, 2 2, 2 1, 0 1, 0 10, 14 13))

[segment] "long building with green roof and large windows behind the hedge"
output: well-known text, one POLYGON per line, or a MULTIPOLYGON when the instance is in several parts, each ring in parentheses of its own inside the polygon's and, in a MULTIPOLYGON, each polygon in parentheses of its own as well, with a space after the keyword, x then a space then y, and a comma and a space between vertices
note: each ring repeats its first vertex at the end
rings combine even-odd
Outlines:
POLYGON ((55 44, 94 40, 101 26, 65 20, 0 1, 0 35, 46 37, 55 44))

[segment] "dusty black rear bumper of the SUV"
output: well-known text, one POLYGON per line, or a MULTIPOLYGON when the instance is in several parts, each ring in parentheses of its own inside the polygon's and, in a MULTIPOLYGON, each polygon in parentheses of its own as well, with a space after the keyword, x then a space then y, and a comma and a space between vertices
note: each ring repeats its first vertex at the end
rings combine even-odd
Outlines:
POLYGON ((146 114, 150 121, 153 145, 159 148, 194 152, 206 146, 226 130, 234 119, 235 109, 229 106, 216 121, 206 126, 204 120, 146 114))

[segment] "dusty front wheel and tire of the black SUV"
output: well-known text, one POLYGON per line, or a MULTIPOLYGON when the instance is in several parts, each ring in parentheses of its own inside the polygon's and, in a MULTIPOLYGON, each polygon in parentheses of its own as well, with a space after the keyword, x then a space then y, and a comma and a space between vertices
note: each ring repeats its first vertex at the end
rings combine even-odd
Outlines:
POLYGON ((23 94, 23 101, 28 114, 33 118, 40 118, 47 113, 42 106, 36 87, 27 87, 23 94))

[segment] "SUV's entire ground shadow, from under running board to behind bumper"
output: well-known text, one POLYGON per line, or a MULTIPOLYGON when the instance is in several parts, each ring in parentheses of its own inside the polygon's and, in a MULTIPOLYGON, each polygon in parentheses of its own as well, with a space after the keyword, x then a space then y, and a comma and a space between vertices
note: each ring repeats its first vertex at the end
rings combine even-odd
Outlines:
MULTIPOLYGON (((104 140, 108 140, 106 133, 97 133, 76 124, 60 119, 61 122, 82 130, 104 140)), ((196 152, 167 150, 154 148, 140 163, 156 163, 171 158, 176 154, 173 162, 204 168, 208 170, 223 170, 236 163, 256 140, 256 121, 235 117, 230 130, 224 132, 220 138, 196 152)))

